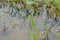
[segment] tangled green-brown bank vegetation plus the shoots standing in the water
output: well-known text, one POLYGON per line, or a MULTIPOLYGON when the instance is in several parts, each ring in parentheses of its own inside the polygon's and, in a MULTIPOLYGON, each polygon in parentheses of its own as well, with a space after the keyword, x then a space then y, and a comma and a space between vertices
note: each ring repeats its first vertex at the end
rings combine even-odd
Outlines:
MULTIPOLYGON (((60 0, 0 0, 0 8, 2 8, 2 6, 5 7, 6 5, 9 5, 10 9, 12 8, 8 12, 12 17, 16 17, 16 15, 18 14, 18 16, 22 17, 24 21, 26 18, 30 19, 32 27, 32 30, 30 31, 31 40, 49 40, 49 34, 54 28, 52 22, 59 21, 59 24, 56 25, 60 26, 60 0), (13 9, 15 9, 16 12, 13 12, 13 9), (44 38, 41 39, 41 32, 40 30, 37 32, 37 25, 34 18, 36 16, 38 18, 39 16, 41 17, 44 9, 46 10, 48 21, 46 20, 45 22, 43 22, 43 28, 45 32, 43 33, 44 38), (50 21, 50 18, 53 19, 52 22, 50 21), (48 28, 48 23, 50 23, 53 26, 49 26, 48 28)), ((60 33, 57 33, 56 40, 60 40, 60 33)))

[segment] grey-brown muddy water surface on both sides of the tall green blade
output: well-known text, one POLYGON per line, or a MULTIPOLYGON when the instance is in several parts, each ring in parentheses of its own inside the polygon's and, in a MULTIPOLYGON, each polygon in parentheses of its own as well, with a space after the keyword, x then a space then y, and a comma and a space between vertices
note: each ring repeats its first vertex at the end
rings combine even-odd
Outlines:
MULTIPOLYGON (((3 5, 2 5, 3 6, 3 5)), ((18 17, 16 14, 15 17, 12 17, 15 14, 16 9, 13 8, 13 14, 11 14, 11 7, 5 6, 0 8, 0 40, 30 40, 29 29, 30 21, 29 18, 24 21, 22 17, 18 17), (10 11, 9 11, 10 10, 10 11), (23 22, 23 23, 22 23, 23 22), (21 26, 22 25, 22 26, 21 26)), ((24 13, 24 12, 23 12, 24 13)), ((24 13, 25 14, 25 13, 24 13)), ((46 9, 42 12, 39 18, 35 18, 37 29, 41 32, 45 31, 42 27, 42 22, 47 20, 46 9)), ((54 26, 59 25, 58 22, 53 22, 53 19, 49 19, 54 26)), ((51 23, 48 23, 47 28, 51 26, 51 23)), ((56 31, 52 29, 49 40, 56 40, 56 31)))

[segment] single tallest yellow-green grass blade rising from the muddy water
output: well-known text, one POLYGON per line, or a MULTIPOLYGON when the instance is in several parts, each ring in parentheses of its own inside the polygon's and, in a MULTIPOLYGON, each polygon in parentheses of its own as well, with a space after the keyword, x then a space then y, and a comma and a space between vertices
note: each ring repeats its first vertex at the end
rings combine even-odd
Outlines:
POLYGON ((30 32, 30 36, 32 37, 31 40, 37 40, 37 36, 36 36, 36 23, 34 21, 34 17, 33 17, 33 15, 29 15, 29 17, 30 17, 30 20, 31 20, 31 26, 32 26, 32 28, 34 30, 33 34, 32 34, 32 32, 30 32))

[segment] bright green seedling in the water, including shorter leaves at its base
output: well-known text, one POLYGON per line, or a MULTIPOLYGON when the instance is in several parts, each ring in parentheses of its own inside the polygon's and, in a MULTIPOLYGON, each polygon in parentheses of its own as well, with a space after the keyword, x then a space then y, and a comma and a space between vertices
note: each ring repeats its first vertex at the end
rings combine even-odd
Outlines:
POLYGON ((31 26, 33 29, 33 32, 30 32, 30 36, 31 36, 31 40, 40 40, 40 31, 38 33, 37 32, 37 26, 34 20, 34 16, 33 15, 29 15, 30 20, 31 20, 31 26))

